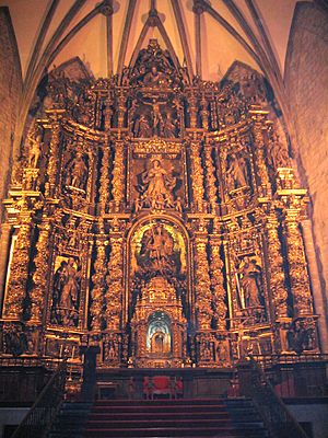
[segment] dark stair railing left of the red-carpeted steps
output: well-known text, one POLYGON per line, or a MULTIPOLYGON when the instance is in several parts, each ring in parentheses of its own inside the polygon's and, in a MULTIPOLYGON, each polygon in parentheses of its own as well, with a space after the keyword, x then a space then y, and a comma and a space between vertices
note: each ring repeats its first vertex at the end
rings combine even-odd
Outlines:
POLYGON ((62 361, 11 438, 46 436, 63 400, 66 370, 62 361))

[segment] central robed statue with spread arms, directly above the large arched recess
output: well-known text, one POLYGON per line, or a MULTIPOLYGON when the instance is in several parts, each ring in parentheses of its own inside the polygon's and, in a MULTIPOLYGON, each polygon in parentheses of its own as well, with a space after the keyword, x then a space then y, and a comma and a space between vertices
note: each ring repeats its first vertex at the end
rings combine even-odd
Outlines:
POLYGON ((159 159, 152 161, 150 169, 142 172, 139 180, 138 188, 143 205, 154 208, 174 207, 172 191, 176 186, 176 177, 162 166, 159 159))

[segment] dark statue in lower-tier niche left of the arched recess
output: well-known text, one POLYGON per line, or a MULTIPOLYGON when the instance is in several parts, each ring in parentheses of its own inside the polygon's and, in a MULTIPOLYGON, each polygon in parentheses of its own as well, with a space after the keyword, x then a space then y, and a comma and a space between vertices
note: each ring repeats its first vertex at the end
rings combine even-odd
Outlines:
POLYGON ((78 323, 81 273, 75 260, 61 261, 54 276, 52 322, 74 326, 78 323))

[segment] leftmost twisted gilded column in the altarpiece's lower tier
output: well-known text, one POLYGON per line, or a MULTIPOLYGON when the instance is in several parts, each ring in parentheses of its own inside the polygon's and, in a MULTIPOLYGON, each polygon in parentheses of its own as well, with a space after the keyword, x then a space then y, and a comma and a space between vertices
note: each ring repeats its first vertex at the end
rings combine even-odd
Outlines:
POLYGON ((30 262, 30 242, 32 235, 31 212, 21 212, 21 224, 14 243, 10 266, 10 278, 4 297, 2 318, 20 321, 23 315, 23 302, 26 295, 26 281, 30 262))

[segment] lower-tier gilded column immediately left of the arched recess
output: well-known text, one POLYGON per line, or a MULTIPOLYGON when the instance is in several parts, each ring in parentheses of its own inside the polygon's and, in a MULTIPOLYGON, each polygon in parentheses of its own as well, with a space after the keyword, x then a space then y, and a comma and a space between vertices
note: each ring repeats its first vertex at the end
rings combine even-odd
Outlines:
POLYGON ((107 291, 106 301, 106 322, 107 330, 118 331, 120 328, 120 312, 122 304, 122 284, 124 284, 124 238, 119 231, 110 233, 112 252, 108 262, 108 275, 106 277, 107 291))

